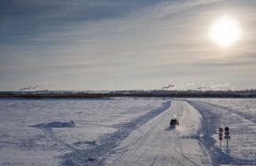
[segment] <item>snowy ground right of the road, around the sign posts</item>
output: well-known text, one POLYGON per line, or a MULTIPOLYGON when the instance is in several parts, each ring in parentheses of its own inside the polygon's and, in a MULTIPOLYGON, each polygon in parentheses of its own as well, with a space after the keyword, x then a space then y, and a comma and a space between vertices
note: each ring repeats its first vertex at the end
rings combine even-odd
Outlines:
POLYGON ((256 99, 190 99, 202 114, 202 139, 218 164, 256 165, 256 99), (231 139, 219 146, 219 132, 229 127, 231 139))

